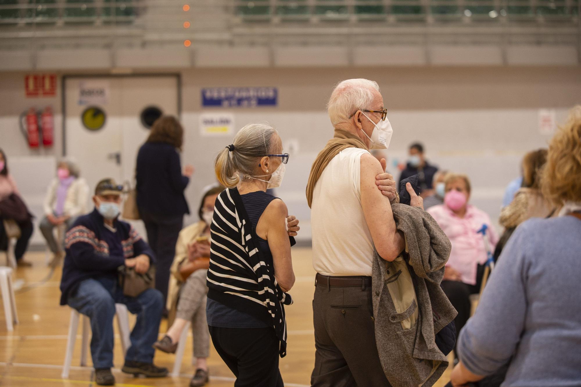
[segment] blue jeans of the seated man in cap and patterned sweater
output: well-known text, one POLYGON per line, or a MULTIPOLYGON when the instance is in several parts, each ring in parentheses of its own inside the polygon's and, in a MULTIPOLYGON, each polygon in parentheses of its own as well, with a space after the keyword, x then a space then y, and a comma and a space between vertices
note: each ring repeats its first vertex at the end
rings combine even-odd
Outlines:
POLYGON ((156 289, 148 289, 136 298, 123 295, 123 289, 114 277, 89 278, 81 281, 77 291, 69 297, 69 306, 91 320, 91 357, 93 367, 113 367, 113 317, 115 304, 121 303, 137 314, 131 331, 131 347, 125 360, 153 363, 153 343, 157 340, 162 318, 163 296, 156 289))

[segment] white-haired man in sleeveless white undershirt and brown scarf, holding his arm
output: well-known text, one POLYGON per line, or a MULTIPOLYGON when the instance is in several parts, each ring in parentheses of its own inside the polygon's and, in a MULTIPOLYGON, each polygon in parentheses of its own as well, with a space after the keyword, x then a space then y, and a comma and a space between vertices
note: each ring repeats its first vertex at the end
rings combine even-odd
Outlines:
MULTIPOLYGON (((404 249, 390 200, 393 177, 370 149, 387 149, 392 128, 376 82, 351 79, 331 94, 335 134, 313 163, 311 207, 315 367, 311 385, 389 386, 379 361, 372 314, 374 249, 392 261, 404 249), (379 189, 378 189, 379 188, 379 189)), ((422 199, 408 185, 412 205, 422 199)))

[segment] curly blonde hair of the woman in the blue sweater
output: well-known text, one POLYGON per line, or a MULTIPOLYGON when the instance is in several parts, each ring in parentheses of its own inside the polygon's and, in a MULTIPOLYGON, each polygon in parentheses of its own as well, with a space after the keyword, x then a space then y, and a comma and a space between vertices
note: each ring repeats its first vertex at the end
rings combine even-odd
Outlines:
POLYGON ((571 109, 566 123, 551 139, 541 191, 557 206, 581 202, 581 105, 571 109))

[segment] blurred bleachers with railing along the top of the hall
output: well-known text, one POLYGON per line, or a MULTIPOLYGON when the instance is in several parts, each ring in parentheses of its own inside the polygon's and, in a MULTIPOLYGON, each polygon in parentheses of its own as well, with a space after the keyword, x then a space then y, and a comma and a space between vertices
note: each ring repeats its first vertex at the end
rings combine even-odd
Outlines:
POLYGON ((272 44, 317 35, 340 44, 346 35, 350 42, 379 35, 389 44, 425 44, 428 35, 497 42, 499 34, 581 47, 580 1, 0 0, 0 49, 57 38, 63 45, 272 44))

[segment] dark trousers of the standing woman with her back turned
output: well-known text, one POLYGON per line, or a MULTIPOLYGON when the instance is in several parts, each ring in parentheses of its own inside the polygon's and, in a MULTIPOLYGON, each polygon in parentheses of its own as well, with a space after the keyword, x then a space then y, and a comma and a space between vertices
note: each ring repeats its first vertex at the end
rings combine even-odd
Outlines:
POLYGON ((161 216, 142 209, 139 209, 139 214, 145 223, 149 246, 156 256, 155 288, 162 292, 165 306, 175 243, 184 225, 184 216, 161 216))

